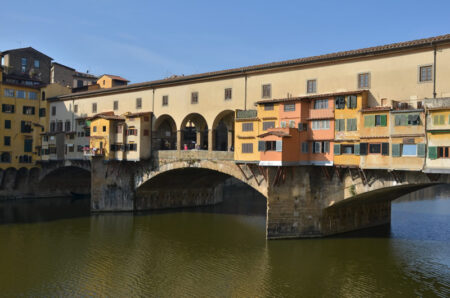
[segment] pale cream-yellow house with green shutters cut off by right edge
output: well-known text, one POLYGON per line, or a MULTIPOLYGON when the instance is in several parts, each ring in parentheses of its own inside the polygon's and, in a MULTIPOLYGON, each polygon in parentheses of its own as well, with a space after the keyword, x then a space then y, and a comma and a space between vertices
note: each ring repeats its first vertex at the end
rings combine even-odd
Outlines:
POLYGON ((427 173, 450 173, 450 98, 434 100, 427 108, 427 173), (437 102, 436 102, 437 101, 437 102))

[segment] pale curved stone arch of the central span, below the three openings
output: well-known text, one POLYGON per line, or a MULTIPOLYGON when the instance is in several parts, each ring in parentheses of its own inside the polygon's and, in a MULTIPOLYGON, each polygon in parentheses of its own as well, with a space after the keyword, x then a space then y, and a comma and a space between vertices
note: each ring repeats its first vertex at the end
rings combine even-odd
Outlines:
POLYGON ((217 163, 210 160, 191 160, 191 161, 174 161, 170 163, 166 163, 160 165, 159 168, 155 171, 138 173, 135 177, 135 189, 138 189, 146 182, 155 178, 158 175, 163 173, 167 173, 174 170, 181 169, 205 169, 210 171, 219 172, 221 174, 225 174, 229 177, 234 177, 251 188, 258 191, 261 195, 263 195, 267 199, 267 182, 262 177, 254 178, 249 177, 244 174, 244 171, 240 170, 238 165, 234 162, 221 162, 217 163), (258 180, 259 179, 259 180, 258 180))

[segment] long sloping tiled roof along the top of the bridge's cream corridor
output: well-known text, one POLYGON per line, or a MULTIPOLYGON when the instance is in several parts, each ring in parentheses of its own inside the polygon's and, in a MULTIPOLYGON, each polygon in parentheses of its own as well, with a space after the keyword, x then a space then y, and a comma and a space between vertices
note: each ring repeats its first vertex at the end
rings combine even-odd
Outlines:
POLYGON ((351 58, 382 55, 382 54, 386 54, 386 53, 393 53, 393 52, 405 51, 405 50, 410 50, 410 49, 430 48, 436 44, 449 43, 449 42, 450 42, 450 34, 439 35, 439 36, 434 36, 434 37, 429 37, 429 38, 417 39, 417 40, 406 41, 406 42, 398 42, 398 43, 392 43, 392 44, 387 44, 387 45, 382 45, 382 46, 362 48, 362 49, 357 49, 357 50, 342 51, 342 52, 330 53, 330 54, 319 55, 319 56, 311 56, 311 57, 291 59, 291 60, 285 60, 285 61, 281 61, 281 62, 271 62, 271 63, 253 65, 253 66, 239 67, 239 68, 231 68, 231 69, 226 69, 226 70, 205 72, 205 73, 193 74, 193 75, 187 75, 187 76, 170 77, 170 78, 161 79, 161 80, 130 84, 127 86, 117 86, 117 87, 108 88, 108 89, 80 92, 77 94, 69 94, 69 95, 65 95, 65 96, 60 96, 60 97, 58 97, 58 99, 65 100, 65 99, 69 99, 69 98, 83 97, 83 96, 89 96, 89 95, 95 95, 95 94, 108 94, 108 93, 115 93, 115 92, 128 91, 128 90, 134 90, 134 89, 153 88, 155 86, 162 86, 162 85, 181 84, 183 82, 200 80, 200 79, 212 79, 212 78, 225 77, 225 76, 237 76, 237 75, 242 75, 242 74, 249 73, 249 72, 267 71, 267 70, 276 69, 276 68, 295 67, 295 66, 300 66, 300 65, 309 65, 309 64, 313 64, 313 63, 339 61, 339 60, 351 59, 351 58))

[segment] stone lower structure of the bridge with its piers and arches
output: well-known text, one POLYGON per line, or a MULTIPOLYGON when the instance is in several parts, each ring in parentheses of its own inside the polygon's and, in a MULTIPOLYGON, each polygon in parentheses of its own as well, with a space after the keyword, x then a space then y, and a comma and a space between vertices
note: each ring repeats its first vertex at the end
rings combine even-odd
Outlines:
POLYGON ((232 152, 157 151, 140 162, 92 160, 93 211, 216 204, 234 177, 267 200, 267 238, 321 237, 390 222, 391 201, 450 175, 237 164, 232 152))

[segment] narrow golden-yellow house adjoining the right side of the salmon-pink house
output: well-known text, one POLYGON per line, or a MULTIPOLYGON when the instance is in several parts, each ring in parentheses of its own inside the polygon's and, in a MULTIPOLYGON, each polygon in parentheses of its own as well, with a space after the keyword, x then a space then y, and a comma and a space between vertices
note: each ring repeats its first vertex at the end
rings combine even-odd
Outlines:
POLYGON ((333 163, 359 167, 361 110, 367 107, 368 91, 343 92, 335 96, 333 163))

